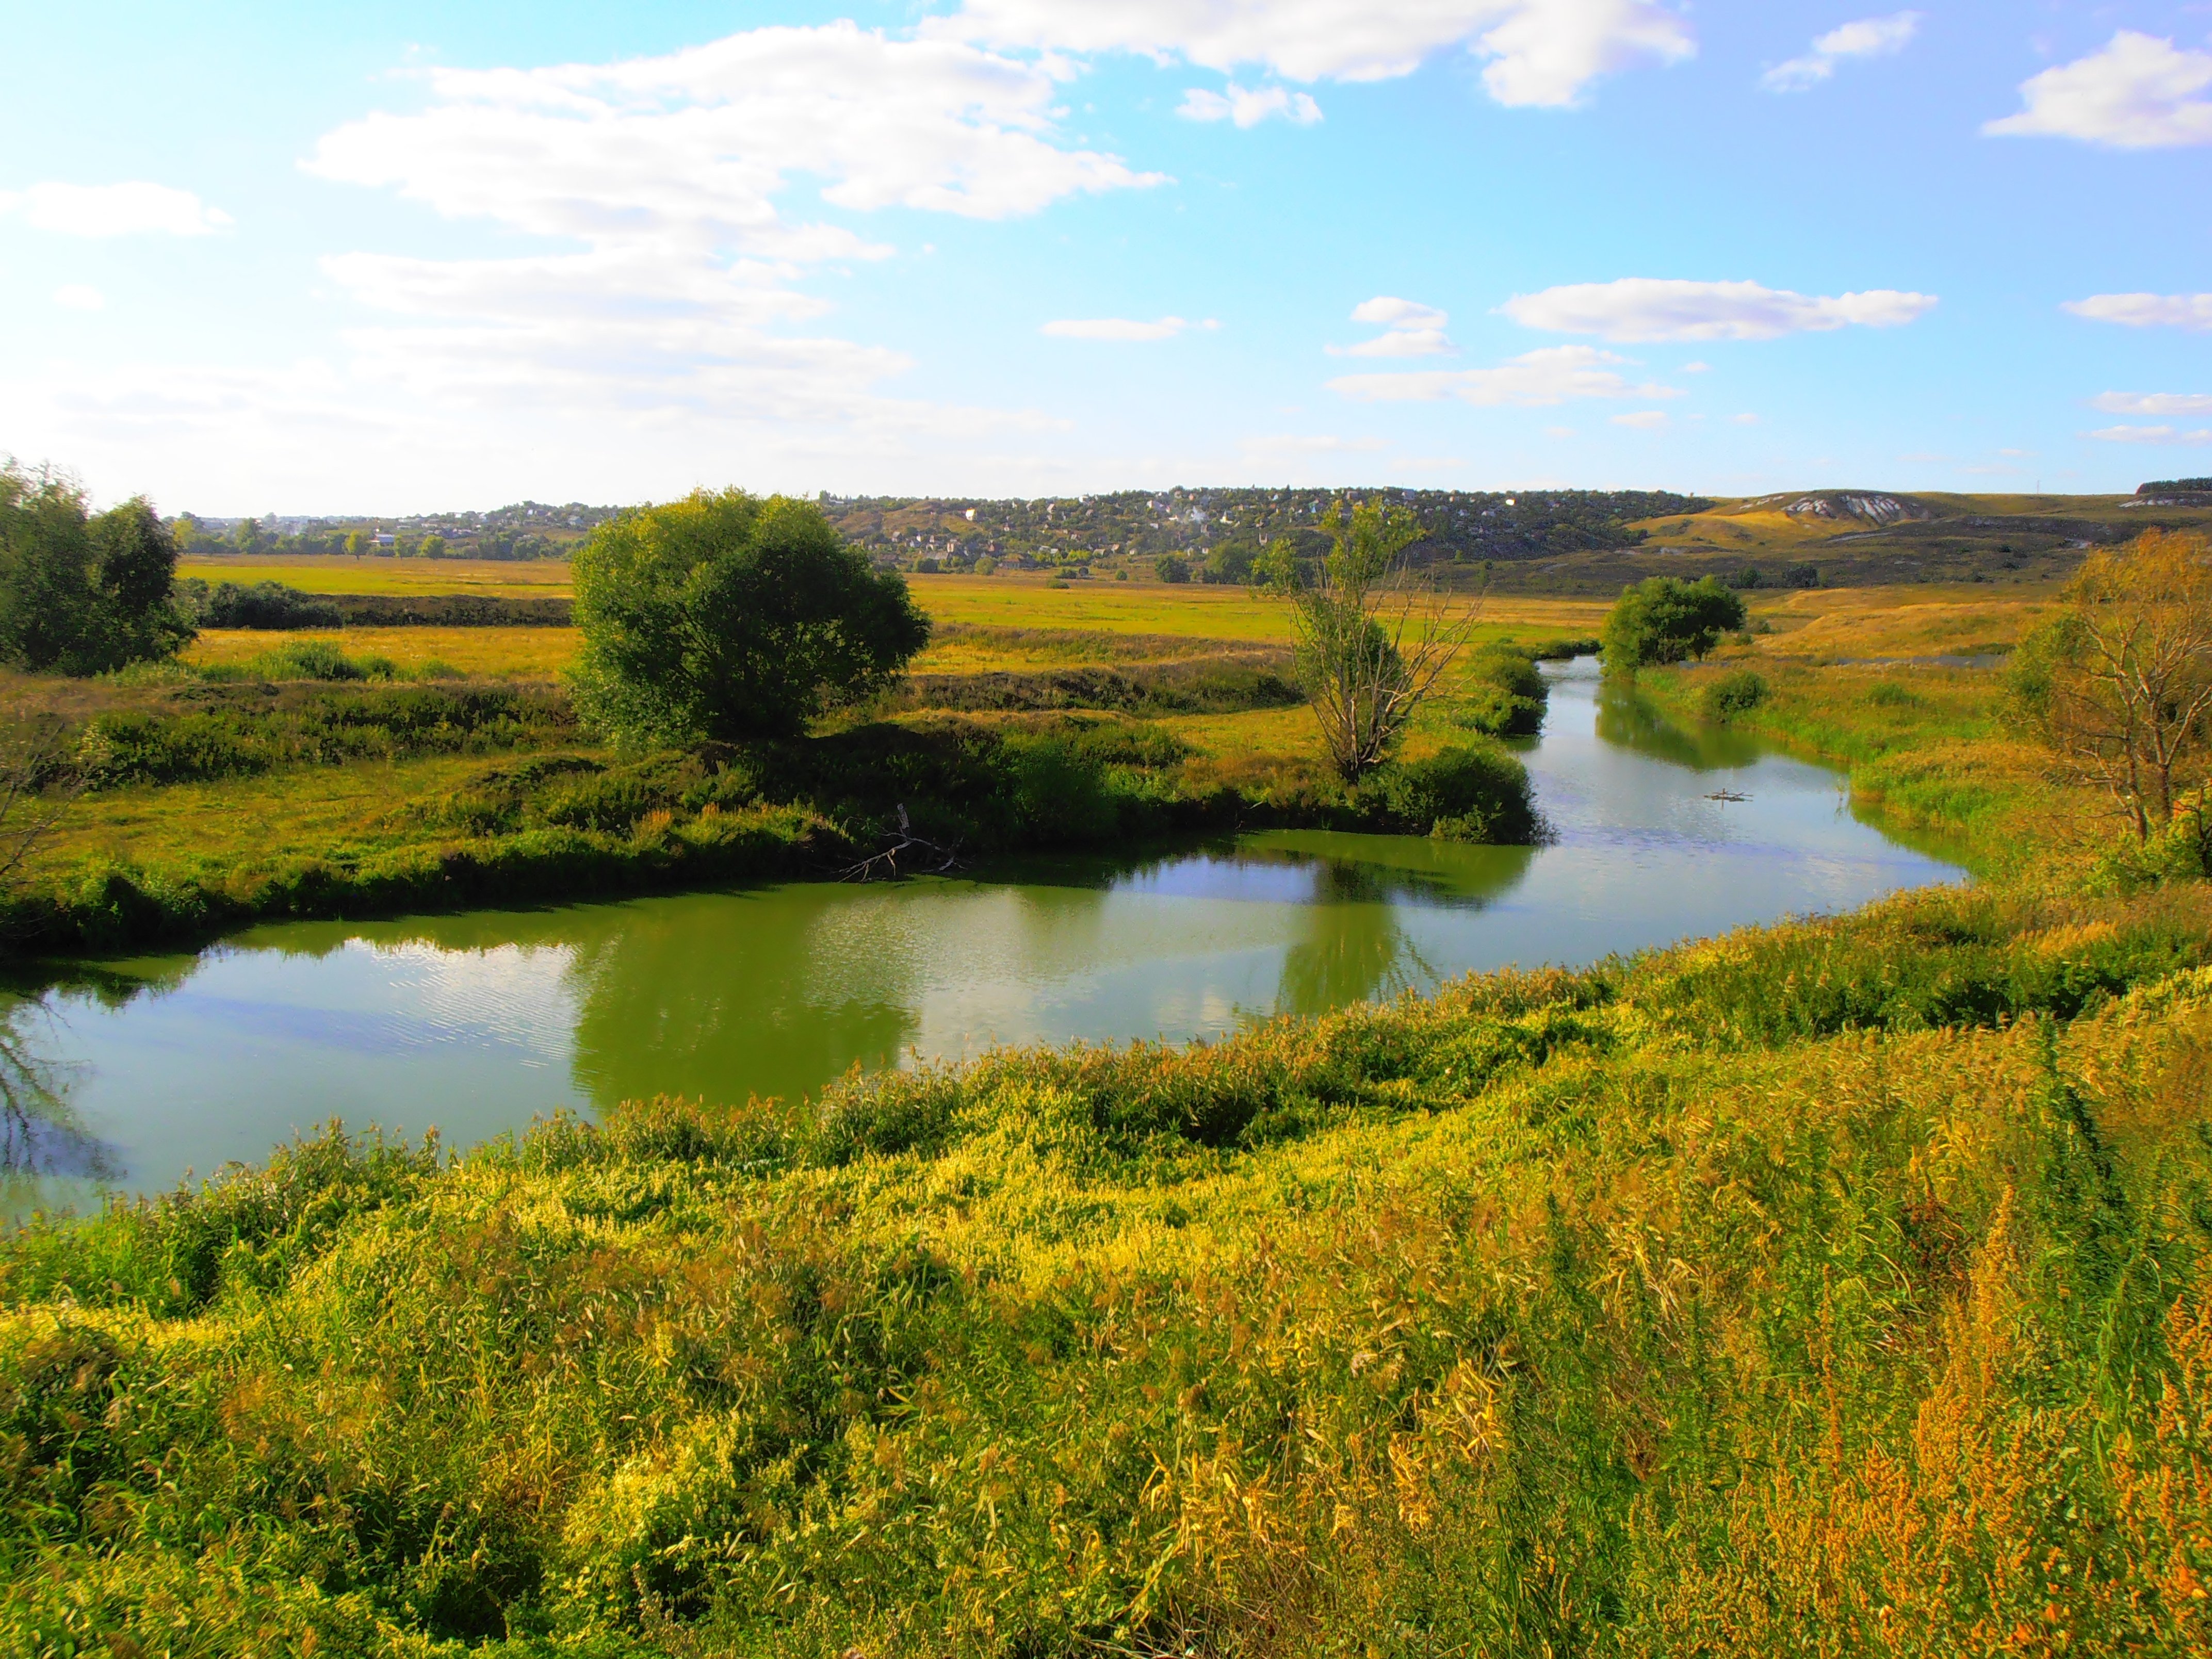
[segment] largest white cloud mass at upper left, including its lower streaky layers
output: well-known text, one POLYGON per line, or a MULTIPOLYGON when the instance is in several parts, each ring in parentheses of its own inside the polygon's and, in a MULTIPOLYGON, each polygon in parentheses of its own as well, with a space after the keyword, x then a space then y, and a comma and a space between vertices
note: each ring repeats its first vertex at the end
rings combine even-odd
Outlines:
POLYGON ((349 330, 356 369, 460 407, 633 427, 1033 427, 885 398, 905 354, 792 334, 827 310, 796 285, 807 265, 894 252, 792 201, 814 188, 854 212, 1004 219, 1161 184, 1064 142, 1064 75, 849 22, 615 64, 431 71, 427 108, 327 133, 307 173, 573 250, 325 259, 356 301, 409 319, 349 330))

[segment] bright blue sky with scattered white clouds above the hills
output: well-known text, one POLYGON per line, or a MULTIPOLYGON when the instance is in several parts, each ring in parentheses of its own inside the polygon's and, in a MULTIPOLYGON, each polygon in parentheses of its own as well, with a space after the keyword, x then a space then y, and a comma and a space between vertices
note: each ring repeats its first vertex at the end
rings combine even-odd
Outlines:
POLYGON ((0 453, 164 511, 2212 471, 2205 0, 9 7, 0 453))

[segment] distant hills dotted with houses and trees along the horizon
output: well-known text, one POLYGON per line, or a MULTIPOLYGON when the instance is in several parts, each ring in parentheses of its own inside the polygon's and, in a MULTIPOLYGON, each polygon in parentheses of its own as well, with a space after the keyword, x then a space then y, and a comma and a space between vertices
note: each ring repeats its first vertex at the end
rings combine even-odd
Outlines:
MULTIPOLYGON (((821 495, 830 522, 880 564, 971 571, 1128 571, 1181 560, 1192 582, 1243 582, 1276 538, 1314 555, 1338 498, 1385 498, 1422 529, 1411 557, 1455 586, 1504 593, 1617 593, 1646 575, 1721 575, 1739 586, 1878 582, 2042 582, 2084 549, 2150 529, 2212 529, 2212 478, 2168 478, 2132 495, 1940 495, 1798 489, 1741 500, 1630 489, 1203 489, 1037 500, 821 495)), ((190 520, 195 555, 336 553, 349 531, 387 553, 442 542, 445 557, 566 557, 622 509, 522 502, 414 518, 190 520), (436 535, 440 542, 429 542, 436 535)))

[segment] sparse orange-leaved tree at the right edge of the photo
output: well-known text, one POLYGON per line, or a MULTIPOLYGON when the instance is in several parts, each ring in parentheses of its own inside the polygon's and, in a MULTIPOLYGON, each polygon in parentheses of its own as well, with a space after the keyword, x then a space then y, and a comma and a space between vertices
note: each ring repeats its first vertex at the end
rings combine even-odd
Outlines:
POLYGON ((2070 606, 2024 648, 2015 686, 2044 734, 2104 783, 2137 841, 2190 796, 2203 834, 2212 741, 2212 544, 2150 531, 2095 551, 2070 606))

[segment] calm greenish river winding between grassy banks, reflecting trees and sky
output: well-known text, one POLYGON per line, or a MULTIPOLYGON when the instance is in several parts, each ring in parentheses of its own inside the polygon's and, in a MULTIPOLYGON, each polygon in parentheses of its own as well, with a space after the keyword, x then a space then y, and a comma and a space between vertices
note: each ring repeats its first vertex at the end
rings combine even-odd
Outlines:
POLYGON ((263 927, 71 964, 7 1015, 0 1208, 146 1192, 341 1117, 469 1146, 655 1095, 799 1095, 1009 1042, 1212 1037, 1958 880, 1840 779, 1555 670, 1557 838, 1270 832, 958 878, 263 927), (1721 792, 1747 796, 1717 799, 1721 792))

